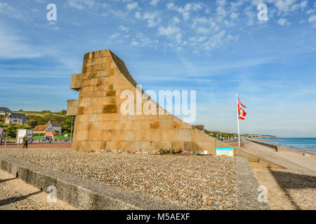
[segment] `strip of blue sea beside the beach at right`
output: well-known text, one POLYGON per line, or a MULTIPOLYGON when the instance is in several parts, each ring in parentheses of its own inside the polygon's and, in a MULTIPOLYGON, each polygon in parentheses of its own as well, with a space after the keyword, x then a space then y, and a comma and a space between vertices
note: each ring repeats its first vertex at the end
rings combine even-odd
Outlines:
POLYGON ((316 154, 316 138, 256 138, 268 144, 287 146, 289 149, 316 154))

